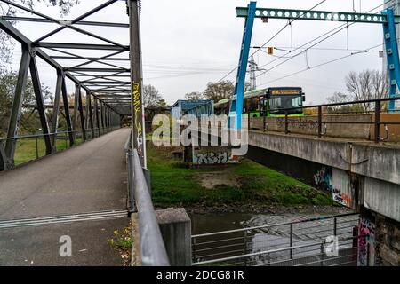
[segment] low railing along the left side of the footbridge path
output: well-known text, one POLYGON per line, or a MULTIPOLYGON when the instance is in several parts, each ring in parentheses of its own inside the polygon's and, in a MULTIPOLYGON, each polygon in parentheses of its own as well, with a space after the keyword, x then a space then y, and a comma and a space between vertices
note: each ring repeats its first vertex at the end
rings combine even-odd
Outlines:
POLYGON ((39 158, 44 157, 48 154, 54 154, 56 152, 60 152, 70 148, 71 146, 80 145, 86 141, 92 140, 93 138, 98 138, 101 135, 107 134, 110 131, 117 130, 119 127, 104 127, 104 128, 93 128, 86 130, 73 130, 73 131, 59 131, 56 133, 47 133, 47 134, 33 134, 33 135, 24 135, 24 136, 16 136, 11 138, 0 138, 0 147, 4 149, 4 144, 6 141, 13 140, 16 143, 15 154, 19 153, 19 148, 24 146, 23 142, 32 143, 33 147, 28 147, 24 149, 24 153, 20 154, 21 157, 15 157, 15 166, 19 166, 26 162, 32 162, 39 158), (69 136, 73 136, 74 143, 68 143, 70 141, 69 136), (50 137, 52 142, 56 141, 56 145, 53 145, 51 151, 46 149, 44 138, 50 137), (57 141, 60 141, 57 143, 57 141), (20 144, 19 144, 20 143, 20 144))

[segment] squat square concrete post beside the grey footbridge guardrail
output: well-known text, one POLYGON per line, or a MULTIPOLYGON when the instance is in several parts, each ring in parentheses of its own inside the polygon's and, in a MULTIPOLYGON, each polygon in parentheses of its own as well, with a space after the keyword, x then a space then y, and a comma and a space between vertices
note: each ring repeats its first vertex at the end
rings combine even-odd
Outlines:
POLYGON ((185 209, 156 210, 165 249, 172 266, 192 264, 191 221, 185 209))

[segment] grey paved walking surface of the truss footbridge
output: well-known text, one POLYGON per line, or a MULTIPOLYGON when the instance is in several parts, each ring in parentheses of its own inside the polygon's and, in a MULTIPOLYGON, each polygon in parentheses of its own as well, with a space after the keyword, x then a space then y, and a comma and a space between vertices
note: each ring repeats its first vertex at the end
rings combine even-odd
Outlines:
MULTIPOLYGON (((116 130, 0 173, 0 223, 126 209, 124 143, 129 132, 116 130)), ((0 265, 121 265, 121 256, 107 239, 127 224, 127 217, 100 217, 53 225, 0 225, 0 265), (71 257, 59 254, 62 235, 71 237, 71 257)))

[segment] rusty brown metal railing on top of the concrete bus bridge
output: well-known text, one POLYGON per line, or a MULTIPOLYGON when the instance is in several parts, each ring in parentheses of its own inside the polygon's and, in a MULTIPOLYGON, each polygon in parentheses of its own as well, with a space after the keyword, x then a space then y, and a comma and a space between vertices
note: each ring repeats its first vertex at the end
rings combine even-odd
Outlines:
MULTIPOLYGON (((292 124, 314 124, 316 125, 316 133, 315 135, 318 138, 322 138, 326 134, 326 128, 327 125, 329 124, 366 124, 366 125, 372 125, 373 128, 373 135, 372 135, 372 140, 375 141, 376 143, 380 141, 385 141, 388 139, 388 126, 390 125, 400 125, 400 120, 396 122, 389 122, 389 121, 381 121, 381 114, 384 114, 382 111, 382 105, 383 103, 387 103, 388 101, 393 101, 393 100, 400 100, 400 97, 398 98, 385 98, 385 99, 368 99, 368 100, 357 100, 357 101, 351 101, 351 102, 344 102, 344 103, 333 103, 333 104, 322 104, 322 105, 314 105, 314 106, 301 106, 301 107, 291 107, 291 108, 283 108, 280 109, 281 112, 284 112, 282 115, 282 118, 279 117, 268 117, 266 114, 265 110, 261 111, 260 117, 262 117, 262 121, 257 120, 252 118, 250 115, 250 112, 247 114, 247 127, 248 129, 260 129, 260 130, 268 130, 268 124, 269 123, 284 123, 284 133, 288 134, 291 132, 290 130, 290 125, 292 124), (367 110, 364 112, 354 112, 350 109, 346 110, 343 109, 343 106, 368 106, 367 110), (339 106, 339 107, 338 107, 339 106), (371 107, 373 106, 373 107, 371 107), (301 121, 299 117, 292 116, 291 111, 293 110, 299 110, 302 109, 303 111, 307 109, 314 109, 316 110, 316 121, 301 121), (326 109, 326 112, 324 112, 324 108, 326 109), (340 109, 342 108, 342 109, 340 109), (373 114, 373 121, 371 122, 360 122, 360 121, 324 121, 324 115, 325 114, 373 114), (267 121, 268 118, 268 121, 267 121), (270 120, 270 119, 274 120, 270 120), (253 126, 252 125, 257 123, 260 124, 260 126, 253 126), (380 126, 383 125, 384 130, 386 131, 386 137, 380 137, 380 126)), ((396 112, 400 113, 400 112, 396 112)), ((389 113, 393 114, 393 113, 389 113)), ((399 131, 400 133, 400 131, 399 131)))

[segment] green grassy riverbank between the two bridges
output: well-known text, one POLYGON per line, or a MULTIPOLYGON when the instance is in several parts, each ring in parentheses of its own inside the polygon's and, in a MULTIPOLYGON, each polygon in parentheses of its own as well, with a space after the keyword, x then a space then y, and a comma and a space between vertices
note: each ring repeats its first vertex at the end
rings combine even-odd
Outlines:
POLYGON ((156 206, 333 204, 328 194, 247 159, 237 165, 188 169, 180 160, 173 159, 171 152, 171 147, 156 147, 148 143, 148 168, 156 206), (204 174, 235 182, 234 185, 205 188, 204 174))

